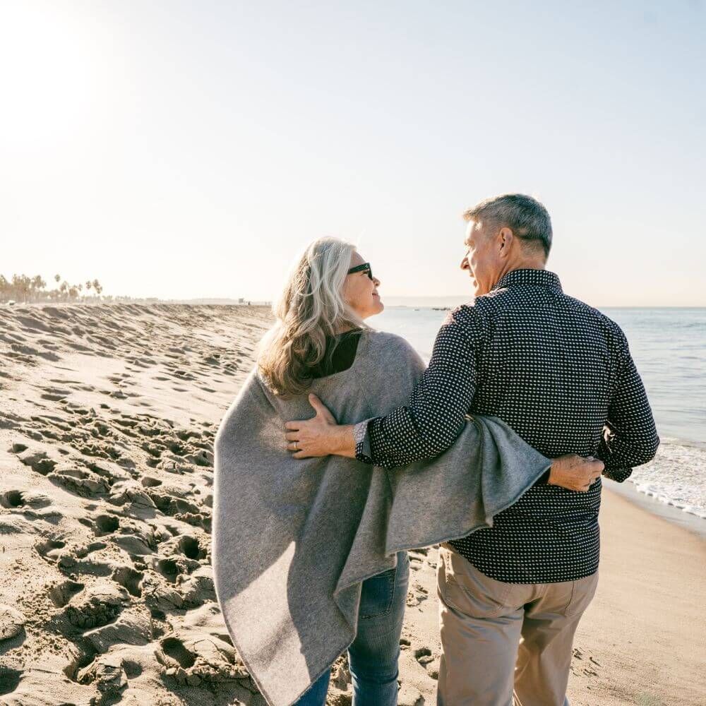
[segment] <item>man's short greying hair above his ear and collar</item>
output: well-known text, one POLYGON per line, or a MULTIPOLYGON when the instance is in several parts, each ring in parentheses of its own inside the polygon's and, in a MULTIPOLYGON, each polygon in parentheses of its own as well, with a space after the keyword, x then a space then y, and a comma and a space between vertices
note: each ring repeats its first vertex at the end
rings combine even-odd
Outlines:
POLYGON ((463 214, 464 220, 508 227, 516 237, 534 246, 542 246, 544 257, 551 249, 551 219, 544 206, 523 193, 504 193, 486 198, 463 214))

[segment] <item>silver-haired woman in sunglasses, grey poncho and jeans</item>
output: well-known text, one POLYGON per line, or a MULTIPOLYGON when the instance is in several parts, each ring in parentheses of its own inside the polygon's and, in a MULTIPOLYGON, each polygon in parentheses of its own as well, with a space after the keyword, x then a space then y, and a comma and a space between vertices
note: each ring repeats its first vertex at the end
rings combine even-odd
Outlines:
POLYGON ((323 706, 330 665, 346 649, 354 706, 396 705, 405 549, 489 526, 492 508, 515 502, 552 465, 500 420, 484 421, 482 434, 467 424, 439 459, 395 471, 292 458, 283 428, 311 416, 308 393, 357 421, 402 404, 424 371, 405 340, 364 323, 383 311, 379 285, 351 244, 313 242, 216 438, 217 595, 234 645, 276 706, 323 706))

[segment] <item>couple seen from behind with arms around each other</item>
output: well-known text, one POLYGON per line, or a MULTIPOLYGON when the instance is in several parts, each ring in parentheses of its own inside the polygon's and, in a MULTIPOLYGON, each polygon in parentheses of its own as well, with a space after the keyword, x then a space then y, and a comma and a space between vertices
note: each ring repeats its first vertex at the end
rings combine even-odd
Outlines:
POLYGON ((544 206, 508 194, 464 217, 475 298, 428 366, 364 323, 383 310, 371 264, 321 239, 220 426, 217 595, 271 704, 323 706, 345 650, 354 706, 397 704, 406 550, 434 544, 438 704, 568 704, 601 476, 659 438, 621 328, 545 269, 544 206))

